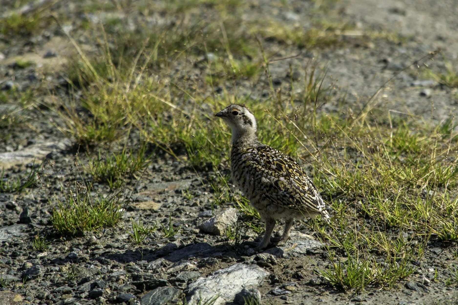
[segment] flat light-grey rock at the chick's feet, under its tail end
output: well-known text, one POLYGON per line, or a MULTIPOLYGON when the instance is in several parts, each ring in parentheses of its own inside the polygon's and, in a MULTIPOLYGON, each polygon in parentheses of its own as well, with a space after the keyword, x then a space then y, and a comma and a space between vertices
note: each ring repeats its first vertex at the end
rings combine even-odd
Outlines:
POLYGON ((272 254, 276 257, 298 257, 307 254, 307 250, 320 249, 324 246, 321 242, 316 241, 313 236, 291 232, 290 238, 283 246, 276 246, 266 249, 264 253, 272 254))

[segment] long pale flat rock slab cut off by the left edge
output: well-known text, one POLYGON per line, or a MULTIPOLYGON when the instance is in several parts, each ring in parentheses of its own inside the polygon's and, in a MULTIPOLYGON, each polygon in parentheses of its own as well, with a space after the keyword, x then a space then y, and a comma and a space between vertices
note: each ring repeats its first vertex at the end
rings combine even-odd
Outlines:
POLYGON ((43 142, 30 145, 23 150, 0 153, 0 168, 10 168, 18 164, 26 164, 35 159, 43 159, 52 151, 61 151, 69 147, 68 139, 60 142, 43 142))

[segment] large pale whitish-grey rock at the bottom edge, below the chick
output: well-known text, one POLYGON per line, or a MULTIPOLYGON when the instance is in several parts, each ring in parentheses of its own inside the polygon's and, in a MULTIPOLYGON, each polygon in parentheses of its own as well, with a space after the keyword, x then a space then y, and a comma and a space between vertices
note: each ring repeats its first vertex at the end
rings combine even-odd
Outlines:
POLYGON ((236 294, 247 286, 258 286, 270 273, 256 265, 234 264, 211 273, 207 278, 198 278, 188 285, 188 305, 219 305, 232 302, 236 294))

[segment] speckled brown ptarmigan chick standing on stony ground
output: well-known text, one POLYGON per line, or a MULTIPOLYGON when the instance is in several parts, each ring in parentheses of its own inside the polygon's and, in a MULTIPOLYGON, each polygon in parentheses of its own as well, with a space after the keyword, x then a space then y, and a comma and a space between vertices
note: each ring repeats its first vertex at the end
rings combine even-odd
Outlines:
POLYGON ((258 141, 256 118, 250 109, 231 104, 216 116, 232 128, 232 180, 266 224, 256 251, 270 242, 286 241, 294 219, 322 215, 329 222, 326 204, 302 167, 288 155, 258 141), (285 219, 283 235, 271 238, 277 219, 285 219))

